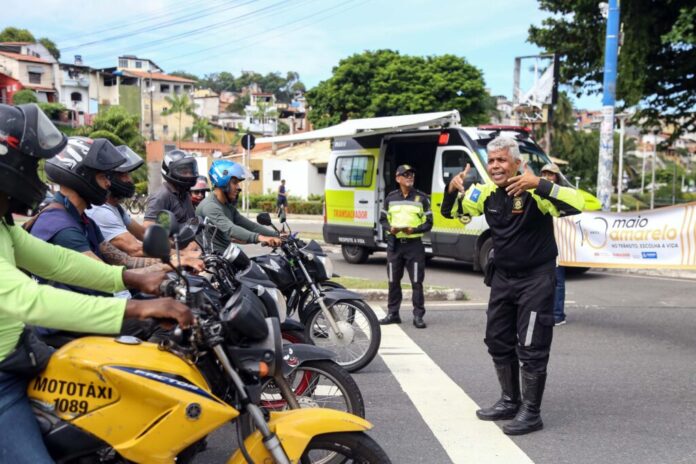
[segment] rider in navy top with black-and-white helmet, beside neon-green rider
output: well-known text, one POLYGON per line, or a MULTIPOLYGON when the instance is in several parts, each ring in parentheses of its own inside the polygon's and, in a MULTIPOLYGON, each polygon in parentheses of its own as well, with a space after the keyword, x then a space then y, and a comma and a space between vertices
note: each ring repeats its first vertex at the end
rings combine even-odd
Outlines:
MULTIPOLYGON (((106 139, 70 137, 65 150, 45 165, 46 177, 60 190, 26 228, 35 237, 109 264, 128 269, 164 269, 157 259, 130 257, 105 241, 99 226, 85 214, 92 206, 106 203, 114 170, 127 162, 127 157, 106 139)), ((72 290, 90 293, 80 288, 72 290)))

